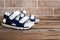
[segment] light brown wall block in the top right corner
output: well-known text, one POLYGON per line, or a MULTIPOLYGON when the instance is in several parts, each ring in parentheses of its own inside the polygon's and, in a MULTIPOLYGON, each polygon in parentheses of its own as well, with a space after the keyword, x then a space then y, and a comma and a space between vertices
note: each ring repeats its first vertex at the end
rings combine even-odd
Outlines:
POLYGON ((60 7, 59 0, 38 0, 39 7, 60 7))

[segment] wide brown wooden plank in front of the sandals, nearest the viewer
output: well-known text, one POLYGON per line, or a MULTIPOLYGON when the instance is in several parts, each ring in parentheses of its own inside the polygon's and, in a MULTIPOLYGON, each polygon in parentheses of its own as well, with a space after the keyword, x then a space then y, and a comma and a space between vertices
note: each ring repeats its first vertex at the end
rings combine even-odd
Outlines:
POLYGON ((0 40, 60 39, 60 29, 0 29, 0 40))

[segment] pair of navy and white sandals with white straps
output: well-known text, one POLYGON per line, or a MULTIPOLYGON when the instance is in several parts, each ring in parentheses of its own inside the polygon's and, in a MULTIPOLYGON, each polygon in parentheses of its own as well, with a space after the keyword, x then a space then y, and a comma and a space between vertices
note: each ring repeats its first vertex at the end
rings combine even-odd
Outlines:
POLYGON ((30 29, 38 23, 34 15, 26 15, 26 10, 14 11, 13 13, 5 12, 2 25, 14 29, 30 29))

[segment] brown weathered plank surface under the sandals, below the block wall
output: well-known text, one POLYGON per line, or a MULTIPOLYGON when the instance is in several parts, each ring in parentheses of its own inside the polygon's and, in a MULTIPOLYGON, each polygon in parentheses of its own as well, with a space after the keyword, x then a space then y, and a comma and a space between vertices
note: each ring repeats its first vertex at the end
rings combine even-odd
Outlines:
POLYGON ((0 40, 60 40, 60 18, 50 17, 37 17, 40 22, 29 30, 3 27, 1 17, 0 40))

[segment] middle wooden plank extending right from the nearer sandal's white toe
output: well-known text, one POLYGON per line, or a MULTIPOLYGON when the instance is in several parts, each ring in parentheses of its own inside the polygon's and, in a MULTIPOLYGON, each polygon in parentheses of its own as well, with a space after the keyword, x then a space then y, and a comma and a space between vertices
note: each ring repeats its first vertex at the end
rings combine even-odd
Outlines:
POLYGON ((60 28, 60 20, 41 20, 33 28, 60 28))

